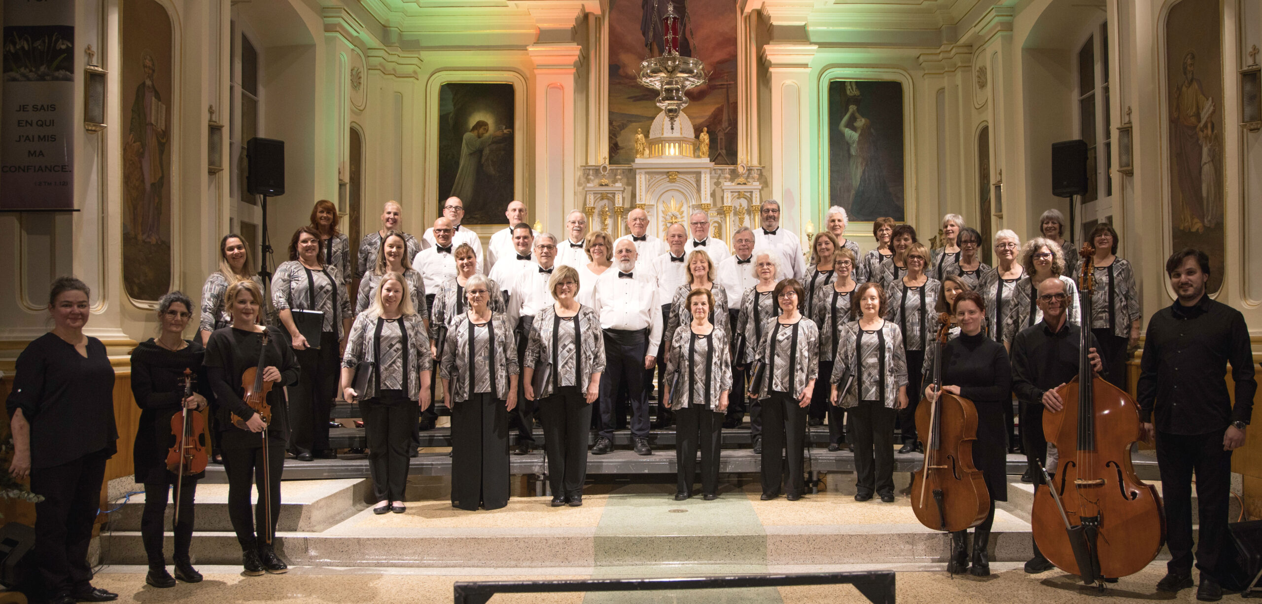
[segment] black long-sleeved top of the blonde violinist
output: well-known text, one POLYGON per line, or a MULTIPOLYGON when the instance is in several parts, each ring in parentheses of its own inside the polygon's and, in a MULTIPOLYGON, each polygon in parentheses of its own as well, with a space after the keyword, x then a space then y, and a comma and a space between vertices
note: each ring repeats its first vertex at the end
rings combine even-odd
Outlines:
MULTIPOLYGON (((285 416, 284 386, 298 381, 298 359, 280 330, 268 328, 268 351, 264 357, 264 367, 275 367, 280 371, 280 382, 271 386, 268 392, 268 405, 271 405, 271 424, 268 433, 273 438, 279 435, 284 439, 288 417, 285 416)), ((249 438, 251 443, 257 436, 232 425, 232 416, 249 419, 254 410, 242 400, 245 388, 241 387, 241 375, 251 367, 259 364, 259 351, 262 346, 262 334, 247 332, 233 327, 216 329, 211 339, 206 343, 206 373, 215 391, 215 414, 218 421, 221 443, 242 443, 249 438)))

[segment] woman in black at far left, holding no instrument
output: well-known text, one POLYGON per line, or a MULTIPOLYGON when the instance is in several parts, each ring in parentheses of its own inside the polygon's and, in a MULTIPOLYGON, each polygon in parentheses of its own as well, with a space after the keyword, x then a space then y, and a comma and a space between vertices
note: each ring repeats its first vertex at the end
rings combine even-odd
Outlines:
POLYGON ((53 330, 18 356, 5 406, 13 430, 18 480, 30 477, 35 503, 33 599, 54 604, 119 598, 93 588, 87 561, 100 506, 105 462, 117 453, 114 367, 101 340, 83 334, 92 314, 88 289, 74 277, 53 281, 48 311, 53 330))

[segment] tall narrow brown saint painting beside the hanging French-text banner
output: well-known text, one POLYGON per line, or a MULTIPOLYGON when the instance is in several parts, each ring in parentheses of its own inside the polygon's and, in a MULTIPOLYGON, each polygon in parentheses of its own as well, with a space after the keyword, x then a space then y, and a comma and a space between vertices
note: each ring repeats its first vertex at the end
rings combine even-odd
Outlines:
POLYGON ((172 23, 155 0, 122 0, 122 284, 136 300, 170 287, 172 23))

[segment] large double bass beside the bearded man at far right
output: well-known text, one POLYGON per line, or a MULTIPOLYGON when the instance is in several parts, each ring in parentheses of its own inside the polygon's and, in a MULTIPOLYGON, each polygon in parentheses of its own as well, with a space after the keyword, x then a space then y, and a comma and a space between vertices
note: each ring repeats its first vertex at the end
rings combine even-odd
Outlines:
MULTIPOLYGON (((1092 317, 1095 286, 1092 256, 1083 243, 1079 276, 1084 323, 1092 317)), ((1047 441, 1060 451, 1060 468, 1035 488, 1030 526, 1042 555, 1090 585, 1138 572, 1157 557, 1166 522, 1156 487, 1131 467, 1131 445, 1142 438, 1131 397, 1092 369, 1090 329, 1079 339, 1078 376, 1058 390, 1064 409, 1044 411, 1047 441), (1088 377, 1084 377, 1088 376, 1088 377)))

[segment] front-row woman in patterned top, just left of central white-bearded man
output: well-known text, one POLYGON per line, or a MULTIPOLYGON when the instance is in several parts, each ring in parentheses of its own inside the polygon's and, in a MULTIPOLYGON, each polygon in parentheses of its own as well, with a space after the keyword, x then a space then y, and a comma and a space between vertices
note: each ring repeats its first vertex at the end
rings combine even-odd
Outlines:
POLYGON ((539 401, 553 507, 583 504, 592 402, 601 393, 604 373, 601 319, 591 306, 578 303, 579 286, 573 266, 560 265, 553 271, 548 290, 557 301, 539 310, 531 322, 521 368, 526 398, 539 401), (538 392, 536 369, 544 372, 538 392))

